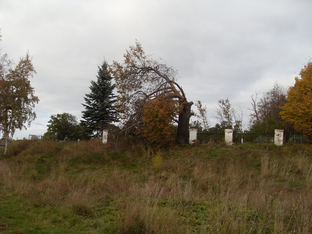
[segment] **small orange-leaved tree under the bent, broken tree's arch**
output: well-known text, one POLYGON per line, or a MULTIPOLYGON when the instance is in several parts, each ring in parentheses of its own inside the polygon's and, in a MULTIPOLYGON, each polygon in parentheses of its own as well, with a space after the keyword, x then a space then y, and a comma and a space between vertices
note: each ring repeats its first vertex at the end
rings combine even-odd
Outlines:
POLYGON ((173 144, 173 122, 179 111, 178 101, 167 95, 149 100, 144 105, 143 136, 159 148, 173 144))

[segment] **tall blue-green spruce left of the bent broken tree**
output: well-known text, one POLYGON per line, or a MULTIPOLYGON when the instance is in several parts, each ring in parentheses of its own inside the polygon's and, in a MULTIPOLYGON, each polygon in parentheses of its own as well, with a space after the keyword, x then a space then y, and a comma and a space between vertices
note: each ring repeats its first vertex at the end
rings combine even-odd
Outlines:
POLYGON ((116 96, 113 94, 114 85, 109 72, 107 62, 104 61, 98 66, 97 80, 91 80, 90 93, 85 94, 85 110, 82 111, 81 125, 84 134, 89 137, 101 138, 103 129, 111 122, 118 122, 117 112, 114 103, 116 96))

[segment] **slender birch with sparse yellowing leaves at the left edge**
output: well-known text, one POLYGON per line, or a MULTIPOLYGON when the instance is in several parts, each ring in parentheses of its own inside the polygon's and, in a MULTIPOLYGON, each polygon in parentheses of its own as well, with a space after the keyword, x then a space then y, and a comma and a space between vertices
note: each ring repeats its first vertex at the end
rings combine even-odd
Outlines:
POLYGON ((14 69, 7 54, 0 55, 0 58, 0 131, 5 140, 5 155, 15 130, 26 129, 36 118, 32 109, 39 99, 29 81, 36 74, 29 53, 20 58, 14 69))

